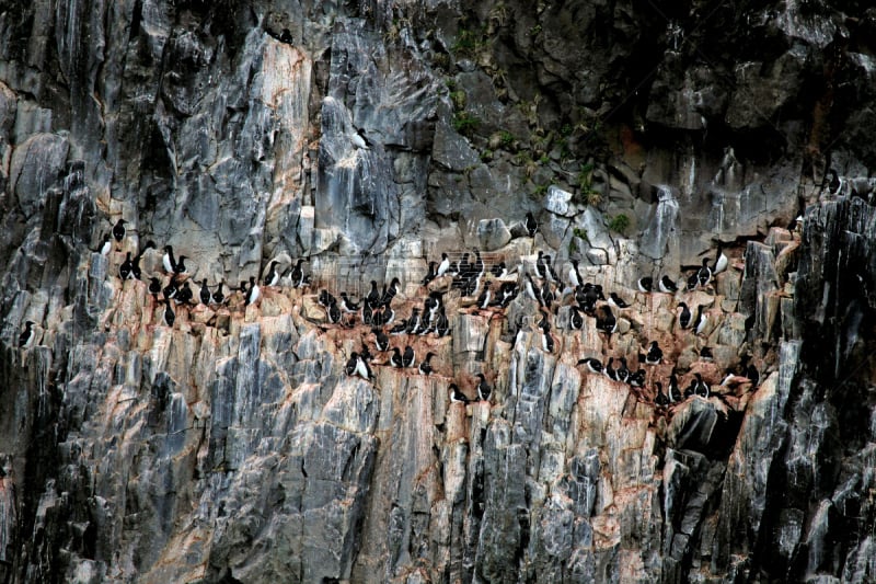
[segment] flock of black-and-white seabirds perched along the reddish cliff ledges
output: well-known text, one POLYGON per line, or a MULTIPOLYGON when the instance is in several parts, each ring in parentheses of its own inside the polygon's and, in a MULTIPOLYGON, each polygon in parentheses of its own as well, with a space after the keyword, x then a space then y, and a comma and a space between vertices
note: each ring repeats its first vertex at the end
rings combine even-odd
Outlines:
MULTIPOLYGON (((126 237, 125 220, 119 219, 112 229, 111 233, 103 237, 99 249, 92 250, 102 255, 108 255, 113 248, 113 240, 120 243, 126 237)), ((529 237, 534 237, 538 224, 531 213, 527 214, 523 222, 529 237)), ((125 261, 118 267, 118 276, 125 279, 141 279, 140 260, 148 249, 155 249, 152 241, 148 241, 143 249, 135 256, 127 252, 125 261)), ((149 293, 157 304, 164 305, 163 320, 168 327, 173 327, 176 319, 173 306, 194 307, 198 304, 211 307, 228 305, 232 298, 237 297, 238 305, 241 299, 243 305, 256 302, 262 294, 260 283, 254 276, 249 282, 241 282, 238 288, 229 289, 229 295, 223 293, 223 283, 220 282, 215 289, 210 289, 207 280, 200 283, 198 294, 195 295, 188 282, 188 273, 185 266, 185 255, 174 256, 173 248, 165 245, 162 257, 162 267, 168 274, 166 284, 161 278, 152 276, 149 278, 149 293)), ((551 334, 551 316, 557 312, 560 306, 568 306, 568 330, 580 331, 585 327, 585 318, 593 319, 596 330, 606 335, 610 341, 613 333, 618 332, 618 317, 614 310, 629 308, 616 293, 612 291, 606 298, 602 287, 598 284, 584 282, 578 271, 578 261, 572 260, 566 278, 563 279, 551 264, 550 255, 543 252, 538 253, 534 263, 534 278, 530 273, 526 273, 522 264, 515 268, 519 275, 509 273, 504 262, 499 262, 487 270, 481 253, 473 251, 474 261, 469 262, 470 254, 464 253, 460 262, 451 262, 447 253, 441 254, 440 261, 428 263, 428 274, 422 280, 423 286, 429 285, 438 278, 449 278, 449 288, 433 289, 428 293, 423 306, 413 307, 407 318, 401 318, 393 308, 393 300, 399 293, 400 280, 393 278, 389 285, 384 284, 382 291, 378 288, 378 283, 371 280, 370 291, 358 301, 348 297, 345 291, 341 291, 336 298, 325 289, 319 293, 316 301, 325 310, 326 321, 339 327, 353 328, 358 323, 369 327, 373 333, 372 342, 376 353, 384 355, 380 363, 369 350, 364 341, 360 351, 353 352, 345 366, 348 376, 359 376, 365 380, 373 381, 374 374, 372 365, 391 366, 395 368, 415 368, 419 375, 428 376, 433 373, 430 359, 435 353, 428 352, 420 360, 412 344, 405 344, 401 348, 397 344, 393 346, 390 337, 403 336, 408 343, 415 336, 433 335, 434 337, 445 337, 450 335, 451 327, 446 312, 445 294, 450 289, 460 290, 462 297, 476 298, 474 306, 477 310, 500 312, 522 293, 533 302, 538 304, 539 320, 537 328, 541 334, 541 347, 548 353, 555 352, 554 336, 551 334), (492 275, 492 278, 487 277, 492 275), (512 276, 514 279, 506 279, 512 276), (499 280, 497 289, 493 289, 493 280, 499 280), (389 354, 389 355, 387 355, 389 354)), ((302 264, 307 259, 299 259, 295 265, 289 266, 286 273, 277 270, 279 262, 272 262, 268 272, 261 285, 266 287, 284 286, 293 288, 304 288, 311 285, 310 276, 304 274, 302 264)), ((704 259, 699 270, 691 272, 683 280, 682 288, 693 291, 698 288, 706 288, 713 277, 727 268, 728 259, 718 247, 717 256, 714 263, 710 264, 708 259, 704 259)), ((445 280, 446 282, 446 280, 445 280)), ((668 275, 659 279, 642 277, 636 282, 636 288, 641 293, 659 291, 675 295, 679 291, 677 280, 668 275), (656 288, 656 289, 655 289, 656 288)), ((695 334, 703 332, 707 322, 707 316, 703 313, 703 306, 699 306, 695 313, 690 307, 681 301, 677 304, 678 325, 682 330, 693 331, 695 334)), ((25 322, 25 328, 19 337, 19 346, 26 347, 34 337, 34 323, 25 322)), ((521 324, 517 324, 517 334, 521 330, 521 324)), ((596 375, 604 375, 609 379, 622 383, 627 383, 631 388, 638 389, 639 397, 648 378, 645 368, 659 365, 664 360, 664 351, 657 341, 643 343, 647 345, 647 351, 639 353, 639 367, 631 368, 625 357, 609 357, 608 362, 593 357, 581 358, 577 366, 585 366, 588 371, 596 375)), ((699 351, 702 360, 712 360, 712 351, 703 346, 699 351)), ((635 366, 633 366, 635 367, 635 366)), ((477 393, 477 400, 489 401, 492 388, 484 373, 476 374, 476 379, 472 379, 477 393)), ((666 379, 666 391, 661 381, 654 381, 652 391, 655 396, 653 401, 658 408, 666 409, 671 404, 682 402, 692 396, 708 398, 712 387, 703 379, 700 373, 690 376, 689 382, 682 387, 677 369, 673 367, 668 379, 666 379)), ((750 356, 744 356, 737 369, 727 369, 726 377, 722 386, 736 387, 740 385, 751 385, 757 387, 759 373, 754 365, 750 363, 750 356)), ((451 402, 469 403, 472 401, 456 383, 449 383, 448 394, 451 402)))

